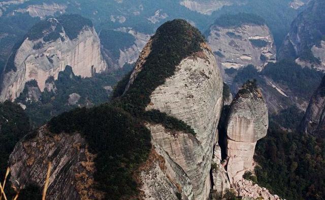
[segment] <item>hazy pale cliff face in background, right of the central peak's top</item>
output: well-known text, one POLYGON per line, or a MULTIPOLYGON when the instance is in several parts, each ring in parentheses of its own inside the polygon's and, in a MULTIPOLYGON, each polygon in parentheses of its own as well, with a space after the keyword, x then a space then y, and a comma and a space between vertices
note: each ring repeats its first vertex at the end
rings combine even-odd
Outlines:
POLYGON ((213 25, 210 28, 208 43, 217 63, 223 69, 238 69, 252 64, 261 70, 267 63, 275 62, 276 48, 272 33, 266 25, 213 25), (264 44, 257 46, 254 41, 264 44))

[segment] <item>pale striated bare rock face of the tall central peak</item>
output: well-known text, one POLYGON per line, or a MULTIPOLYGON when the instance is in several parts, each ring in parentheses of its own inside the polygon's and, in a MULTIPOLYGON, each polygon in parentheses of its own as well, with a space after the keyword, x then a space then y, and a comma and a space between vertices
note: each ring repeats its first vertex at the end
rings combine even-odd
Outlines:
POLYGON ((182 60, 175 75, 151 94, 146 108, 181 119, 197 133, 172 133, 160 125, 148 124, 152 140, 189 177, 194 199, 207 199, 211 189, 209 172, 217 140, 222 86, 213 54, 203 49, 202 56, 182 60))

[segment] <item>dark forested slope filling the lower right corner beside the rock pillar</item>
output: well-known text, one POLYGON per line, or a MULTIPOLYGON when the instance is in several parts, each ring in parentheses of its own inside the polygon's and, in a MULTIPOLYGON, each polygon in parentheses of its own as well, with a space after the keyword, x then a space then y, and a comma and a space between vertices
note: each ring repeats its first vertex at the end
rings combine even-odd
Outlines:
MULTIPOLYGON (((297 123, 300 119, 296 117, 297 123)), ((258 185, 285 199, 322 199, 325 140, 291 129, 283 130, 270 119, 268 135, 255 150, 254 159, 261 166, 255 168, 258 185)))

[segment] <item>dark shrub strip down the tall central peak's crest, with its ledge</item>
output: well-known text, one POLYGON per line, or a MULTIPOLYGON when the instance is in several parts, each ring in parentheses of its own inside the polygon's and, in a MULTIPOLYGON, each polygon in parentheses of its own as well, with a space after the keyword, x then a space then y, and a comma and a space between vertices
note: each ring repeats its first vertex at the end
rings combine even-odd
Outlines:
MULTIPOLYGON (((183 58, 201 51, 200 45, 205 42, 205 39, 198 29, 185 20, 176 19, 161 25, 152 37, 152 41, 151 53, 143 65, 143 70, 139 72, 129 90, 115 99, 113 104, 135 116, 155 122, 157 111, 145 111, 145 107, 150 102, 150 94, 159 85, 164 84, 166 78, 174 75, 175 67, 183 58)), ((168 122, 168 124, 163 123, 166 127, 173 122, 174 129, 193 133, 193 130, 184 126, 182 121, 175 123, 175 119, 163 113, 160 117, 165 117, 160 118, 160 121, 168 122)))

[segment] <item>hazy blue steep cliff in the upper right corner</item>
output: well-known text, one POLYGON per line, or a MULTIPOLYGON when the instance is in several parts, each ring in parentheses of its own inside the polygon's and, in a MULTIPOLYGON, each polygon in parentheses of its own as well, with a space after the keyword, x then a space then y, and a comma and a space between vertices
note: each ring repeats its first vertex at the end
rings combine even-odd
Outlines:
POLYGON ((313 0, 291 24, 289 33, 279 49, 278 59, 295 59, 303 66, 325 69, 325 2, 313 0))

